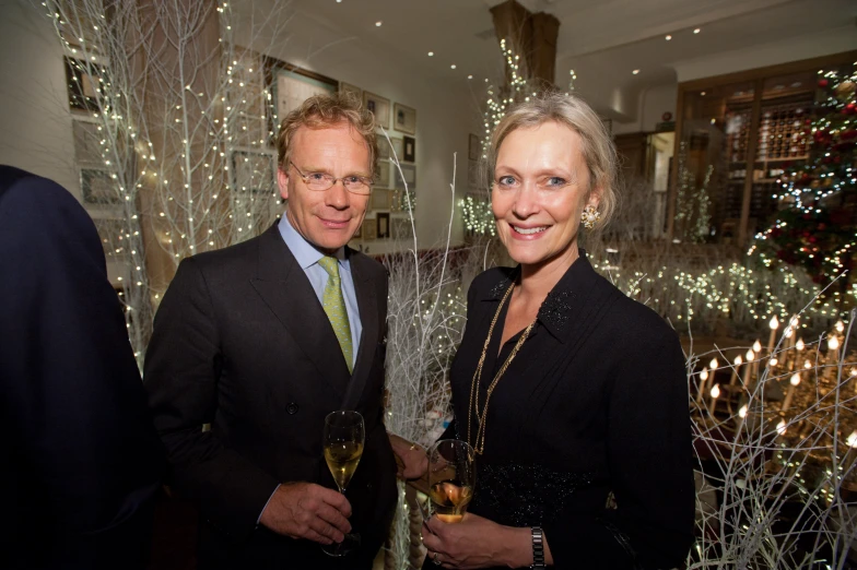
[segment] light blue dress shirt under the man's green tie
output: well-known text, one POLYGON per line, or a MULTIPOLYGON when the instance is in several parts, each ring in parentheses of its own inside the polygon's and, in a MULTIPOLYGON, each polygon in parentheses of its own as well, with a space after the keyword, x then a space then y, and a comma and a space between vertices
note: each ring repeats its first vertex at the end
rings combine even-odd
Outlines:
MULTIPOLYGON (((324 302, 325 287, 327 287, 327 280, 329 275, 327 271, 318 264, 318 260, 325 257, 325 253, 318 251, 312 244, 292 227, 289 218, 283 213, 278 226, 283 241, 289 246, 289 250, 297 260, 297 264, 304 270, 309 284, 313 285, 313 290, 316 292, 318 302, 324 302)), ((339 280, 342 286, 342 296, 345 299, 345 311, 349 316, 349 325, 351 328, 351 345, 354 347, 353 361, 351 367, 357 363, 357 353, 360 352, 360 335, 363 332, 363 325, 360 322, 360 310, 357 309, 357 294, 354 290, 354 278, 351 275, 351 264, 345 259, 345 248, 341 247, 333 254, 339 260, 339 280)))

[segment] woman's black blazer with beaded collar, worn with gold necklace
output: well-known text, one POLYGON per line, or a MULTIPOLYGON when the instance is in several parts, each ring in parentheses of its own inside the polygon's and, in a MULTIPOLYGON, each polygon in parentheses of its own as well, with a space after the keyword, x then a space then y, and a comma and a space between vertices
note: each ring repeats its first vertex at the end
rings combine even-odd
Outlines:
MULTIPOLYGON (((461 439, 488 329, 515 278, 517 270, 492 269, 468 293, 451 368, 453 430, 461 439)), ((488 347, 480 409, 518 340, 497 355, 507 308, 488 347)), ((556 569, 681 567, 694 524, 688 409, 676 332, 598 275, 580 250, 491 397, 470 511, 512 526, 541 524, 556 569), (615 510, 606 508, 610 491, 615 510)), ((474 417, 470 426, 472 444, 474 417)))

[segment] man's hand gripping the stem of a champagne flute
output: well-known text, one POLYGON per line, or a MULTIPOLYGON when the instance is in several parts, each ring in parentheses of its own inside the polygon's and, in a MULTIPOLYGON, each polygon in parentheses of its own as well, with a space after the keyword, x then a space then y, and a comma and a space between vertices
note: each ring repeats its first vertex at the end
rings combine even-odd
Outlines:
POLYGON ((313 483, 283 483, 259 522, 292 538, 332 544, 351 532, 349 516, 351 504, 340 492, 313 483))

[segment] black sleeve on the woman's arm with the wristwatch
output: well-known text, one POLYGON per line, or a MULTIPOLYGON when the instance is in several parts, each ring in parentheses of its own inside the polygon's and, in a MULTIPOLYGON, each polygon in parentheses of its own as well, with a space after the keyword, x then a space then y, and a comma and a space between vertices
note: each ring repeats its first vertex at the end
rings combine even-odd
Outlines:
POLYGON ((555 568, 680 568, 693 542, 693 450, 684 357, 669 331, 626 348, 610 396, 618 509, 545 527, 555 568), (633 553, 633 556, 632 554, 633 553))

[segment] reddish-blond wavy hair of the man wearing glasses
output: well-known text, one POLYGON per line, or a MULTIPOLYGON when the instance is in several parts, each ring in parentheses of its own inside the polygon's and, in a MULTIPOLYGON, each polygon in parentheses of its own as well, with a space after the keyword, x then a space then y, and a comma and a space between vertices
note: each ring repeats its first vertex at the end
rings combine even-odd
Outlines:
POLYGON ((277 134, 277 165, 281 170, 289 168, 292 149, 289 146, 297 129, 324 129, 342 121, 354 129, 369 149, 369 166, 373 177, 378 171, 378 138, 375 134, 375 116, 348 92, 313 95, 300 107, 285 116, 277 134))

